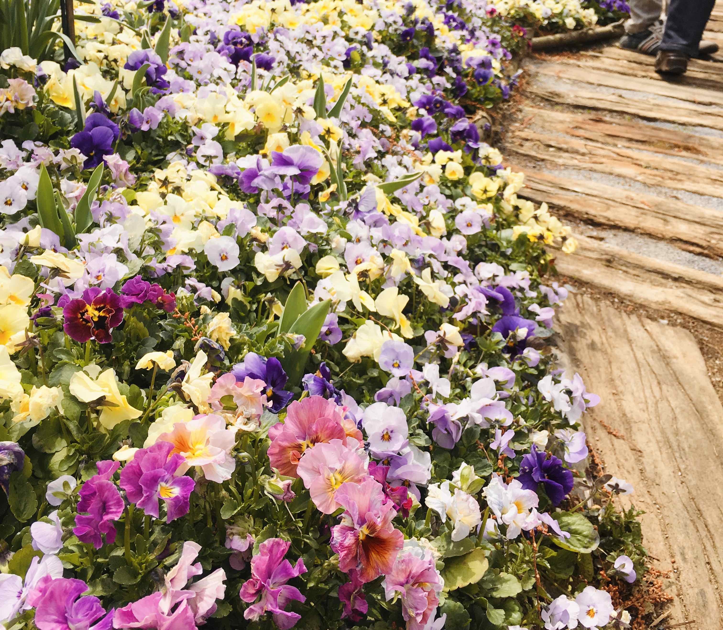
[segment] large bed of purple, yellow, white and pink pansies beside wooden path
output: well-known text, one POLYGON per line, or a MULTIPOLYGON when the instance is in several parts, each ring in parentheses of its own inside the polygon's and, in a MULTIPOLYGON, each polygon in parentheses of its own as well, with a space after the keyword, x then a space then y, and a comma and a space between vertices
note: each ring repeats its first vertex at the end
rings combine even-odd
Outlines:
POLYGON ((82 64, 0 55, 0 621, 627 627, 632 488, 576 484, 544 342, 575 243, 484 142, 524 29, 76 12, 82 64))

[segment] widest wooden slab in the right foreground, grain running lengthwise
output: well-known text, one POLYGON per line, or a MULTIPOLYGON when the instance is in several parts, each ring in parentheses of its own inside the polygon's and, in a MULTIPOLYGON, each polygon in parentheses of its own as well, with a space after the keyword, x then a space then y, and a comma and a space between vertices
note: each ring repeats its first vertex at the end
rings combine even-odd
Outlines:
POLYGON ((616 500, 646 511, 643 543, 654 566, 671 571, 665 626, 723 628, 723 407, 696 341, 581 295, 568 298, 557 326, 564 361, 602 397, 583 418, 589 442, 605 472, 633 484, 616 500))

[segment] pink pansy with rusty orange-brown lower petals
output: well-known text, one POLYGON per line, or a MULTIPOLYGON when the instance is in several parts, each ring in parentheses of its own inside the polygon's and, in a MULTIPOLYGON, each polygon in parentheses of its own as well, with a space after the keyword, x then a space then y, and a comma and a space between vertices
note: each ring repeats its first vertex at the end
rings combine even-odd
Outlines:
POLYGON ((392 525, 397 512, 393 503, 386 501, 380 483, 373 479, 343 483, 335 499, 346 509, 331 534, 331 548, 339 554, 339 568, 359 569, 362 582, 388 574, 404 535, 392 525))

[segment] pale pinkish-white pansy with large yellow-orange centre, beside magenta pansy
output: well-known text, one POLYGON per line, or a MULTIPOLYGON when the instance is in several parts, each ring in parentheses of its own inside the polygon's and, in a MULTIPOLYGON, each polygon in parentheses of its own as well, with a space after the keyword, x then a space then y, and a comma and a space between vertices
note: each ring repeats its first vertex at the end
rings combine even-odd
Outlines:
POLYGON ((236 431, 226 428, 220 415, 200 415, 189 422, 174 424, 170 433, 161 433, 158 441, 171 442, 173 454, 181 454, 185 462, 176 475, 182 475, 192 466, 200 466, 209 481, 221 483, 231 479, 236 461, 231 449, 236 444, 236 431))

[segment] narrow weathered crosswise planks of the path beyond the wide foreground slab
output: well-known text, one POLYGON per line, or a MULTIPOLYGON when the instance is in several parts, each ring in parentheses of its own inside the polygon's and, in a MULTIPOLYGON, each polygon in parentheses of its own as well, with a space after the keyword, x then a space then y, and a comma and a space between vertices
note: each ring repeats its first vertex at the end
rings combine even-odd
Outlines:
MULTIPOLYGON (((723 1, 705 36, 718 35, 723 46, 723 1)), ((615 45, 534 56, 524 68, 504 142, 509 165, 526 174, 522 197, 581 222, 583 234, 585 226, 625 230, 723 260, 723 54, 691 60, 672 81, 654 72, 653 57, 615 45)), ((557 266, 630 301, 723 327, 721 277, 672 258, 583 239, 557 266)))

